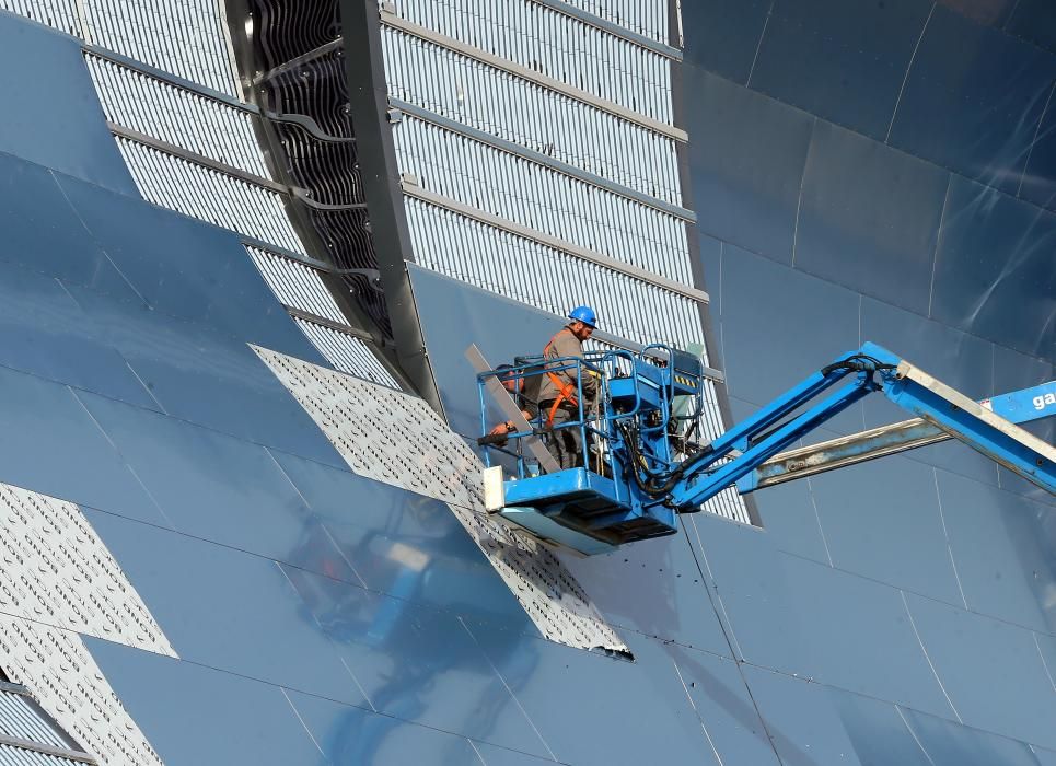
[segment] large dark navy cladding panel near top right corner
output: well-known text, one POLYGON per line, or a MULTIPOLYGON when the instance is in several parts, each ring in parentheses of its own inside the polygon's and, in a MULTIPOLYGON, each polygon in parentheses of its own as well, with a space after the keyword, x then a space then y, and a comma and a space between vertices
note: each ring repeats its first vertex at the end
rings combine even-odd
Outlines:
POLYGON ((1056 57, 938 5, 890 143, 1012 194, 1056 77, 1056 57))

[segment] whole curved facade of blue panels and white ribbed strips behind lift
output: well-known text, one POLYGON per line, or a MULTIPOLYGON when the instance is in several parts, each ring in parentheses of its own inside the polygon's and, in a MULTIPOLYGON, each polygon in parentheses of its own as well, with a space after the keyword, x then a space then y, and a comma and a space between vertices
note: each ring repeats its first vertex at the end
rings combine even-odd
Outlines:
POLYGON ((1045 3, 0 9, 0 757, 1056 764, 1053 500, 974 453, 581 559, 463 441, 580 295, 712 432, 864 339, 1052 380, 1045 3))

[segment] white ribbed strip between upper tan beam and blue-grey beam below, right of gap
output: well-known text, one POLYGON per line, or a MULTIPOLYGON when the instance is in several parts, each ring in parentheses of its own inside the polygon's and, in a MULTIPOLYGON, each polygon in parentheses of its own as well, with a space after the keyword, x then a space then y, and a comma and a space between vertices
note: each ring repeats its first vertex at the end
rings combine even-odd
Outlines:
POLYGON ((382 27, 390 95, 682 204, 674 140, 392 27, 382 27))

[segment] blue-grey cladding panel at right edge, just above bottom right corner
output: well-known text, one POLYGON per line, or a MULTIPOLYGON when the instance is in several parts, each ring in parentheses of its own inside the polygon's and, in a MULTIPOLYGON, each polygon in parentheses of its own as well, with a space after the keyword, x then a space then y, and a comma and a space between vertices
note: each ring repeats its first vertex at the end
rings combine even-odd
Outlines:
POLYGON ((917 595, 906 599, 936 673, 966 726, 1056 745, 1056 695, 1030 630, 917 595))

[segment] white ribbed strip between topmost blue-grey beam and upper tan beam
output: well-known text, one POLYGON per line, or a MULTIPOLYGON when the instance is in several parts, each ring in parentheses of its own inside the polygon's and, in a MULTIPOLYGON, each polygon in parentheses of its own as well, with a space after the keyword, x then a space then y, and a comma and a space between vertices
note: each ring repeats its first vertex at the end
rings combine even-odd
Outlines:
POLYGON ((397 0, 396 15, 638 114, 671 123, 671 62, 529 0, 397 0))

